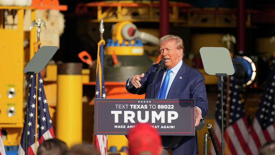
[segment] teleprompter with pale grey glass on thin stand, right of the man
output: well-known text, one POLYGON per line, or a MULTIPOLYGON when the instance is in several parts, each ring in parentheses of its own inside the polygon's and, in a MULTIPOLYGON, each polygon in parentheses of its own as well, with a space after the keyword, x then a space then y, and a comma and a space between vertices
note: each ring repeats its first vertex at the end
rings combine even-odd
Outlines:
POLYGON ((221 154, 224 155, 223 138, 223 77, 235 73, 233 63, 228 49, 224 47, 202 47, 200 49, 201 59, 205 72, 216 75, 221 79, 221 154))

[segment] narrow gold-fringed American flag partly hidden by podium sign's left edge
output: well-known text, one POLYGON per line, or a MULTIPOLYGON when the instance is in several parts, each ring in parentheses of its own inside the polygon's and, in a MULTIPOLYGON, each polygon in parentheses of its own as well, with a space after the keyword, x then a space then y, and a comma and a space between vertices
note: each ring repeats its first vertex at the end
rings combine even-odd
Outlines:
MULTIPOLYGON (((97 50, 97 80, 95 98, 106 98, 104 82, 104 40, 100 40, 97 50)), ((95 135, 95 148, 100 155, 107 155, 107 135, 95 135)))

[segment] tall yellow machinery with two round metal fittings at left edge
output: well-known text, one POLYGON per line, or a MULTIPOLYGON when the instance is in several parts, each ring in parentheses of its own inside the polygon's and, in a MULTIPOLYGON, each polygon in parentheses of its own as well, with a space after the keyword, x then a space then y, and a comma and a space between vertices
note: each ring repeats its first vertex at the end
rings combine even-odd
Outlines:
POLYGON ((5 146, 20 143, 23 129, 23 67, 24 62, 34 55, 34 46, 27 46, 25 49, 23 47, 24 39, 30 40, 30 45, 36 41, 35 30, 23 30, 25 9, 31 10, 30 18, 34 20, 36 10, 33 7, 0 6, 0 66, 3 74, 0 77, 0 127, 7 133, 3 136, 5 146), (14 21, 12 28, 8 27, 3 19, 4 10, 8 9, 17 11, 17 21, 14 21))

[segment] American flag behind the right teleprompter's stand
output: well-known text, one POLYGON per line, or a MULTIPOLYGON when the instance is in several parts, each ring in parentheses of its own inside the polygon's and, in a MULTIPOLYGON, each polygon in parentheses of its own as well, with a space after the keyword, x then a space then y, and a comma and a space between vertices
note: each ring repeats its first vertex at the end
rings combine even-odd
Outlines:
MULTIPOLYGON (((224 78, 223 89, 223 109, 224 116, 224 142, 225 154, 251 154, 250 150, 246 149, 246 142, 248 138, 248 125, 243 110, 243 104, 239 96, 239 88, 235 81, 234 75, 231 75, 229 80, 229 91, 227 95, 227 78, 224 78), (226 104, 228 99, 228 105, 226 104), (228 107, 228 108, 227 108, 228 107), (227 114, 229 113, 229 118, 227 114), (228 122, 228 123, 227 123, 228 122)), ((219 87, 221 91, 221 87, 219 87)), ((214 134, 221 151, 221 94, 218 94, 216 114, 215 114, 214 134)), ((210 154, 215 154, 213 144, 211 145, 210 154)))

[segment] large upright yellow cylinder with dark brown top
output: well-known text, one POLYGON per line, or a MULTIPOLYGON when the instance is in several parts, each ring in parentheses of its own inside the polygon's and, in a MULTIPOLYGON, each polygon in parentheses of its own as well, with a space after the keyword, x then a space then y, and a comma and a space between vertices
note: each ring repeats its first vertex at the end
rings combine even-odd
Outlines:
POLYGON ((82 142, 82 63, 58 64, 56 138, 68 147, 82 142))

